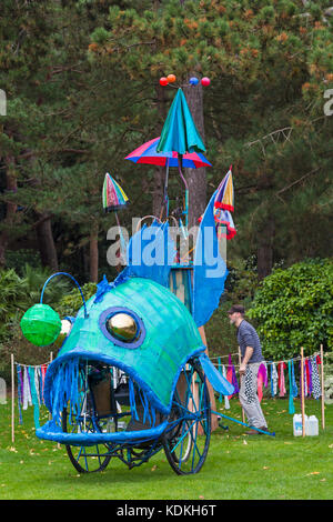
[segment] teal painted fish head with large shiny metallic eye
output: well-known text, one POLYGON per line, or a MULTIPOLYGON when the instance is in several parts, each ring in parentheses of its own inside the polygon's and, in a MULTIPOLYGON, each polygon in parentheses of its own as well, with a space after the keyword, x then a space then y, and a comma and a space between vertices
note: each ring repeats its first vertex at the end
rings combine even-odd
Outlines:
POLYGON ((121 370, 158 411, 168 413, 182 368, 203 351, 192 315, 169 289, 143 278, 129 278, 118 285, 104 280, 79 310, 49 367, 46 403, 52 410, 58 370, 80 359, 121 370))

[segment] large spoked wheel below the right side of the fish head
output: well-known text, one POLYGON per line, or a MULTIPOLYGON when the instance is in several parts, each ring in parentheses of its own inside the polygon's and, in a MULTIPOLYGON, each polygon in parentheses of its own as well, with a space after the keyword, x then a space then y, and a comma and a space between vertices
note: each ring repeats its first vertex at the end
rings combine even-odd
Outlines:
POLYGON ((198 473, 208 454, 211 438, 211 404, 204 374, 190 360, 180 374, 163 438, 168 462, 178 474, 198 473))

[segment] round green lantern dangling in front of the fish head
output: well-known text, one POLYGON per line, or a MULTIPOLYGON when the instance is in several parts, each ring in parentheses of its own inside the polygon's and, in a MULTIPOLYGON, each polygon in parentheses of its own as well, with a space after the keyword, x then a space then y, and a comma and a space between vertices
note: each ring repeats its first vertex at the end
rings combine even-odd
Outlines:
POLYGON ((52 344, 61 331, 58 313, 49 304, 34 304, 21 319, 21 329, 28 341, 37 347, 52 344))

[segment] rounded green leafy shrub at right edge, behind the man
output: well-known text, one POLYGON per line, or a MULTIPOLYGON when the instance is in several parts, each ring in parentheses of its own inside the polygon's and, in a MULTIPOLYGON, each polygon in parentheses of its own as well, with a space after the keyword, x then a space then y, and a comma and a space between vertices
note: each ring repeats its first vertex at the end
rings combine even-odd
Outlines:
POLYGON ((333 260, 312 259, 278 269, 255 293, 254 319, 266 358, 294 357, 333 348, 333 260))

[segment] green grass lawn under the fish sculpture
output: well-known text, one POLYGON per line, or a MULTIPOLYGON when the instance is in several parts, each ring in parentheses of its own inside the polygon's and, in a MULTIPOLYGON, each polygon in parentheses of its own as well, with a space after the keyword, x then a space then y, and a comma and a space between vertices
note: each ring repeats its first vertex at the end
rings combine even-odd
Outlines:
MULTIPOLYGON (((244 435, 230 421, 229 430, 212 433, 200 473, 178 476, 163 452, 131 471, 111 460, 102 473, 78 474, 63 446, 34 435, 33 409, 23 411, 11 442, 11 404, 0 404, 1 500, 331 500, 333 496, 333 405, 326 405, 321 429, 321 403, 306 400, 306 414, 320 419, 320 435, 294 438, 287 400, 264 399, 269 425, 276 436, 244 435)), ((216 403, 216 408, 222 408, 216 403)), ((295 401, 300 412, 300 401, 295 401)), ((222 413, 241 420, 238 400, 222 413)), ((48 418, 41 412, 41 424, 48 418)))

